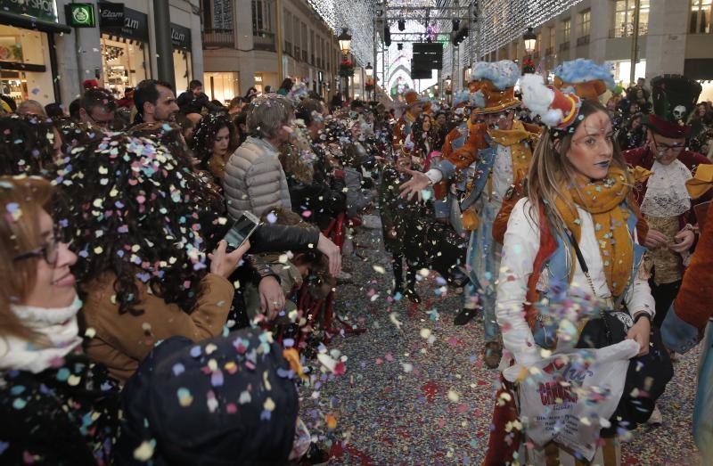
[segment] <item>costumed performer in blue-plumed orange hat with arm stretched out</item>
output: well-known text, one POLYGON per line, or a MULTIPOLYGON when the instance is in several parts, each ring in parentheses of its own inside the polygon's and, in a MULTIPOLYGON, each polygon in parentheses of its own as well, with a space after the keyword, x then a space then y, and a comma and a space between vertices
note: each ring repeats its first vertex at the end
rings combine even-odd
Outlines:
POLYGON ((485 125, 473 125, 471 131, 484 132, 482 147, 473 151, 466 145, 431 166, 425 174, 409 170, 413 178, 403 184, 401 190, 402 195, 413 196, 442 179, 466 176, 460 192, 460 208, 463 226, 471 230, 467 266, 472 285, 467 288, 468 296, 463 310, 455 317, 455 324, 468 323, 480 302, 486 341, 484 361, 488 367, 495 368, 503 352, 495 312, 495 281, 501 246, 493 240, 492 226, 515 179, 527 173, 538 135, 514 119, 520 105, 514 96, 514 86, 520 78, 517 64, 479 62, 474 65, 472 76, 479 82, 471 86, 471 91, 477 89, 474 92, 477 113, 482 115, 485 125))

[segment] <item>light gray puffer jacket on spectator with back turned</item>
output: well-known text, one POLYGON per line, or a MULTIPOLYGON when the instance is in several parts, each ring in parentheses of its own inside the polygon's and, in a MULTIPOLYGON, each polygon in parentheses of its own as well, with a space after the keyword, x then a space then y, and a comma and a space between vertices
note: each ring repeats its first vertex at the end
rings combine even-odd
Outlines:
POLYGON ((270 208, 292 208, 278 152, 271 143, 257 137, 248 137, 228 159, 223 189, 233 218, 245 210, 260 217, 270 208))

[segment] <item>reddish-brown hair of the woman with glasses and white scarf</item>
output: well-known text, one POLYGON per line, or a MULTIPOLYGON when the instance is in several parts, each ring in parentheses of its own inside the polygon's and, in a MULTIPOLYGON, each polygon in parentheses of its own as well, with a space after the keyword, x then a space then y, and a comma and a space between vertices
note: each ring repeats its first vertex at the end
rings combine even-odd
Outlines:
POLYGON ((12 258, 41 245, 39 217, 52 212, 52 184, 35 176, 0 176, 0 339, 8 336, 39 342, 37 335, 20 323, 12 304, 23 304, 37 282, 39 258, 12 258))

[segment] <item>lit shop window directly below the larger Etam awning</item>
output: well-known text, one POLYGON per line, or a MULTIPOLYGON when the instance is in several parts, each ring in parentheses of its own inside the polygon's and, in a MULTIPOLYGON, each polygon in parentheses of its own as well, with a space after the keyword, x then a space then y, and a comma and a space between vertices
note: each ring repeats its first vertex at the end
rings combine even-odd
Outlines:
POLYGON ((127 87, 135 87, 146 74, 147 47, 143 42, 102 34, 104 87, 121 98, 127 87))

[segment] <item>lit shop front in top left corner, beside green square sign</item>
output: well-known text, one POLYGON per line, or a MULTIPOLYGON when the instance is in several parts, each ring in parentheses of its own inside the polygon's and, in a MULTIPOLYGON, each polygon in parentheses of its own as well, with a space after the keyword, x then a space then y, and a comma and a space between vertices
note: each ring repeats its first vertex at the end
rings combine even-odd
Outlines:
POLYGON ((57 22, 54 1, 0 0, 0 93, 15 102, 61 102, 55 33, 72 30, 57 22))

